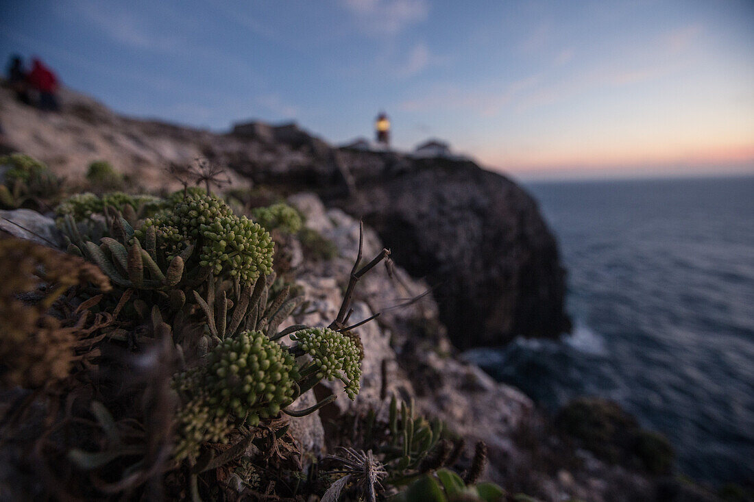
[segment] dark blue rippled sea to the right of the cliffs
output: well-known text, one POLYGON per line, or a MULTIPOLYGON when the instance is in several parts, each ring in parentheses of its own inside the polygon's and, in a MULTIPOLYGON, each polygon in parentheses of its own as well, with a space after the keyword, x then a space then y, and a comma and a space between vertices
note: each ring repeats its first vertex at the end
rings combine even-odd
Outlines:
POLYGON ((754 483, 754 177, 526 188, 559 239, 574 332, 468 357, 546 409, 614 399, 683 473, 754 483))

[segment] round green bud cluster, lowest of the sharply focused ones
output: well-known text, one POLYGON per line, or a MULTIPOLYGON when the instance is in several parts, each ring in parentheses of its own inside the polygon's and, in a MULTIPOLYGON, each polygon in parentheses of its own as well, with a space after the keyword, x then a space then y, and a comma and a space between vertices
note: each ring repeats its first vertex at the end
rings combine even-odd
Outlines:
POLYGON ((207 364, 182 373, 176 384, 183 393, 201 395, 218 416, 246 418, 256 426, 293 401, 299 378, 287 350, 259 331, 226 338, 207 354, 207 364))

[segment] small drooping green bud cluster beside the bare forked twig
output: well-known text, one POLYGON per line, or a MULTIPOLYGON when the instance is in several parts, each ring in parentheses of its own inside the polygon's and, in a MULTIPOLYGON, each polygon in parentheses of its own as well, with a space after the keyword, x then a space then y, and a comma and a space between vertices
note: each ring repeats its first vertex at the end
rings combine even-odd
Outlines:
POLYGON ((352 338, 329 328, 302 329, 292 340, 311 356, 319 366, 317 376, 333 381, 338 378, 345 384, 345 393, 354 399, 359 393, 361 379, 361 351, 352 338))

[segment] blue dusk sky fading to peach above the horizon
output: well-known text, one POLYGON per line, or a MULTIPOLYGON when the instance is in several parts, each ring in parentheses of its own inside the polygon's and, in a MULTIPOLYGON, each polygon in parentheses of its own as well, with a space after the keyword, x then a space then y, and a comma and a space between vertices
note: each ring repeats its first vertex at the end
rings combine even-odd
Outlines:
POLYGON ((118 112, 333 144, 391 118, 522 179, 754 173, 754 2, 0 0, 0 56, 118 112))

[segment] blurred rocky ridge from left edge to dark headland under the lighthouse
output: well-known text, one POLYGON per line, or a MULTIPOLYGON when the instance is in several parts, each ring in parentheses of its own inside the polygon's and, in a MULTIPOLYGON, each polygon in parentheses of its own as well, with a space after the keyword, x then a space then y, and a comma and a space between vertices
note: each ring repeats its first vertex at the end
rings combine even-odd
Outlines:
POLYGON ((458 347, 569 330, 556 240, 535 201, 504 176, 470 161, 339 150, 293 124, 215 134, 124 118, 71 91, 63 103, 44 114, 3 90, 3 148, 66 176, 107 159, 143 188, 164 188, 170 164, 207 158, 231 167, 234 185, 311 190, 363 217, 398 264, 431 283, 458 347))

